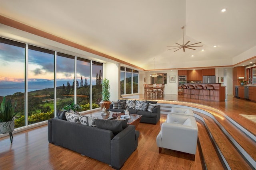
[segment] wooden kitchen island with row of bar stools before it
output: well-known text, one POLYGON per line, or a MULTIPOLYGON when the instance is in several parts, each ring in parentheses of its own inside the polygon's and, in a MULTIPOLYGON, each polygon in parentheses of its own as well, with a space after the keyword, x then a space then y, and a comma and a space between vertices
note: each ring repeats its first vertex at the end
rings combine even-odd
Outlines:
MULTIPOLYGON (((221 86, 222 83, 186 83, 185 85, 192 85, 194 86, 194 88, 196 88, 197 85, 202 85, 204 87, 204 90, 200 90, 202 92, 200 92, 201 94, 204 95, 204 97, 200 97, 201 100, 209 100, 209 90, 205 90, 206 86, 208 84, 214 86, 215 90, 211 90, 211 95, 210 95, 210 101, 214 101, 214 97, 215 97, 215 102, 225 102, 225 97, 226 97, 226 86, 221 86), (212 96, 212 93, 214 93, 214 97, 212 96)), ((189 91, 189 90, 188 90, 189 91)), ((199 95, 198 95, 199 90, 191 90, 191 95, 184 94, 185 98, 194 98, 194 99, 198 99, 199 95)))

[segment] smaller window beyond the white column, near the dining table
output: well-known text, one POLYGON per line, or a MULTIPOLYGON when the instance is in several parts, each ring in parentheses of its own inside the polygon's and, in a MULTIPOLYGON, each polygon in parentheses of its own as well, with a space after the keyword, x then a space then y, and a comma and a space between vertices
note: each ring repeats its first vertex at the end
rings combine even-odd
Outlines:
POLYGON ((139 92, 139 74, 131 68, 120 68, 120 92, 121 94, 134 94, 139 92), (125 93, 124 93, 125 92, 125 93))

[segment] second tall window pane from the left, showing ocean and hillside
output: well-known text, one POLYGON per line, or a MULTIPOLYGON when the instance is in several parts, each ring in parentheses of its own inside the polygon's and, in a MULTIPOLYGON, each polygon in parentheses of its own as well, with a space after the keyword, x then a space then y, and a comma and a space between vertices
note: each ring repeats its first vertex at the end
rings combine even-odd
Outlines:
POLYGON ((54 51, 28 45, 28 124, 54 117, 54 51))

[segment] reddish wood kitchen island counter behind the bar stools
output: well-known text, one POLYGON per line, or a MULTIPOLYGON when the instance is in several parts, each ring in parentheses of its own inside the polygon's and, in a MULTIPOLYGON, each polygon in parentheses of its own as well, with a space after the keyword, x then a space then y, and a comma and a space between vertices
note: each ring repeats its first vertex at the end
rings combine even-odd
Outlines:
MULTIPOLYGON (((222 83, 187 83, 185 85, 188 85, 188 84, 193 85, 195 88, 196 88, 197 84, 200 84, 204 87, 204 89, 206 88, 207 84, 211 84, 215 88, 215 90, 212 90, 214 92, 215 101, 216 102, 225 102, 226 88, 225 88, 225 86, 221 86, 222 83)), ((204 100, 209 100, 208 99, 208 90, 202 90, 202 91, 203 91, 203 94, 204 94, 204 100)), ((194 94, 197 94, 197 93, 198 93, 198 90, 194 90, 194 94)), ((184 97, 188 97, 187 94, 185 94, 184 97)), ((198 96, 197 95, 191 95, 191 98, 197 99, 198 96)), ((210 97, 210 98, 211 98, 211 101, 214 101, 214 97, 210 97)), ((202 99, 203 98, 201 97, 201 100, 202 99)))

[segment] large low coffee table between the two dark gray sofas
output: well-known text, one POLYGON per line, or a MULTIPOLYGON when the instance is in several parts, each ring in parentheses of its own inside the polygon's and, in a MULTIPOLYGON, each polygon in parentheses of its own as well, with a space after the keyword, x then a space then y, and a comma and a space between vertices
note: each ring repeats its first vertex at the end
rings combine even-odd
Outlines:
POLYGON ((136 114, 129 114, 130 118, 126 118, 123 117, 124 113, 120 113, 118 114, 118 116, 114 116, 111 118, 109 114, 107 115, 102 115, 101 112, 93 112, 93 113, 87 113, 87 114, 83 114, 85 116, 90 115, 90 117, 98 117, 99 119, 113 119, 113 120, 125 120, 125 119, 129 119, 127 124, 129 125, 134 125, 135 128, 138 127, 139 123, 140 123, 140 119, 142 117, 142 115, 136 115, 136 114))

